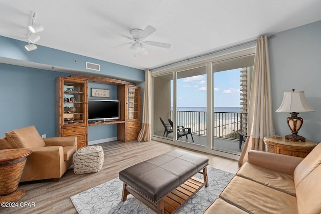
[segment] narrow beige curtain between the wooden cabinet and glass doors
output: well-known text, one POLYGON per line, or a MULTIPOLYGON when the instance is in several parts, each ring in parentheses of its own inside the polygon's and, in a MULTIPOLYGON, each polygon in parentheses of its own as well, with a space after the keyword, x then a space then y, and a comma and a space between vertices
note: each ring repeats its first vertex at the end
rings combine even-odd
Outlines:
POLYGON ((150 70, 145 70, 145 90, 144 90, 144 102, 142 109, 142 127, 138 134, 137 140, 150 141, 151 131, 151 74, 150 70))

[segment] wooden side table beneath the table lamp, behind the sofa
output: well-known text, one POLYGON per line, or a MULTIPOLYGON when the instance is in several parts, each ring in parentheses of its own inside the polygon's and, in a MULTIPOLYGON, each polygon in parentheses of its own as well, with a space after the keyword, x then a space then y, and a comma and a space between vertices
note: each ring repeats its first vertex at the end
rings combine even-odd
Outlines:
POLYGON ((263 138, 265 151, 277 154, 286 154, 297 157, 306 157, 317 145, 316 142, 305 140, 305 142, 290 141, 282 137, 281 139, 272 136, 263 138))

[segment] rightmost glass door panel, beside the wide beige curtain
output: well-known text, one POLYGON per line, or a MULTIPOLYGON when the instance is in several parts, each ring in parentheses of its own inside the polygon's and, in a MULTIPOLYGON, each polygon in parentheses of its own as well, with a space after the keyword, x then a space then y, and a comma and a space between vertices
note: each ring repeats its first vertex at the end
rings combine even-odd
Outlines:
POLYGON ((247 134, 247 101, 254 56, 213 65, 213 149, 239 154, 239 133, 247 134))

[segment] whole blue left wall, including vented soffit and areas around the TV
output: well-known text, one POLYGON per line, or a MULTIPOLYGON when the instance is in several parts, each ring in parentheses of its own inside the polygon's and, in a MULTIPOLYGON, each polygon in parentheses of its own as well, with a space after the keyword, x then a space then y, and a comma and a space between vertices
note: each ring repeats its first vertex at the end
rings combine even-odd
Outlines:
MULTIPOLYGON (((72 70, 73 74, 94 76, 105 75, 114 79, 126 80, 141 85, 144 71, 85 56, 80 56, 48 47, 38 46, 36 51, 27 52, 26 42, 0 36, 0 62, 10 59, 18 62, 31 62, 57 66, 72 70), (74 60, 77 60, 75 63, 74 60), (100 72, 85 69, 85 62, 101 65, 100 72)), ((30 125, 47 137, 55 136, 55 79, 58 76, 70 76, 70 73, 49 71, 0 63, 0 137, 5 133, 30 125)), ((89 84, 91 88, 109 89, 110 98, 117 99, 117 87, 114 85, 89 84)), ((99 125, 88 128, 89 141, 117 137, 117 125, 99 125)))

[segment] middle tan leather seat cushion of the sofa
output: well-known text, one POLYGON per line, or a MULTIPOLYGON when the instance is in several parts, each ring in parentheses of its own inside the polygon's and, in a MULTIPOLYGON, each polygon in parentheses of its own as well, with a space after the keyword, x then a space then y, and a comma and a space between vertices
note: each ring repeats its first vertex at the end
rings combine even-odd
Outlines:
POLYGON ((220 197, 251 213, 297 213, 296 197, 234 176, 220 197))

